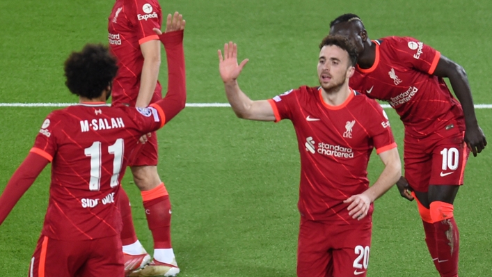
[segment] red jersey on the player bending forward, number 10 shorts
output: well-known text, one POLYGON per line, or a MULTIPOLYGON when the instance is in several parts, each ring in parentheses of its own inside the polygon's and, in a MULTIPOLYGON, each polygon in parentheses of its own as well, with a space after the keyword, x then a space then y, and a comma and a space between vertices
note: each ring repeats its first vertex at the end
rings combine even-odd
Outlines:
POLYGON ((423 138, 444 131, 454 122, 464 131, 463 109, 445 81, 433 76, 441 53, 414 38, 373 40, 374 65, 356 66, 351 88, 368 97, 387 101, 399 114, 407 135, 423 138))

